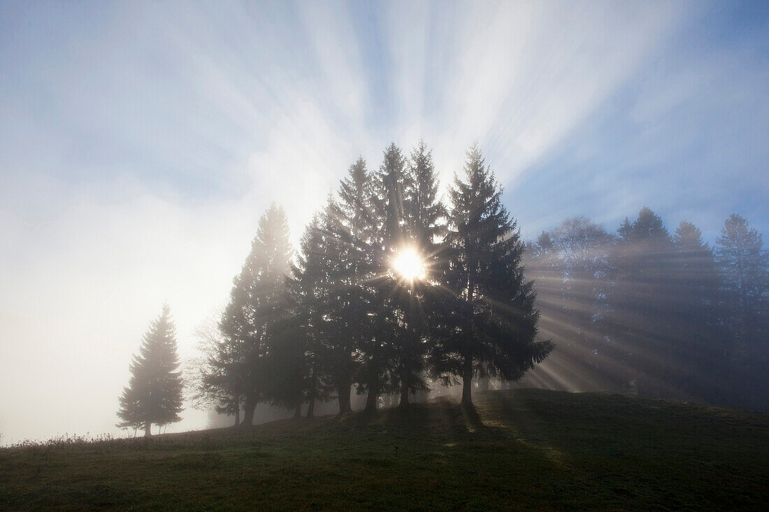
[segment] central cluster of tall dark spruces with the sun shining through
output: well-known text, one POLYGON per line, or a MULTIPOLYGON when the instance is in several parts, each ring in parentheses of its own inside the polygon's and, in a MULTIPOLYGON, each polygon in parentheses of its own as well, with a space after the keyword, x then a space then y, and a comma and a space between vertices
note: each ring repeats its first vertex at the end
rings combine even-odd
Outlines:
POLYGON ((367 412, 382 394, 405 406, 428 381, 461 381, 469 405, 475 376, 511 381, 543 361, 552 344, 534 341, 524 243, 477 147, 449 198, 420 142, 408 158, 390 145, 377 171, 358 158, 296 255, 272 205, 209 338, 198 398, 245 425, 259 403, 311 416, 335 398, 344 414, 353 390, 367 412), (420 275, 398 272, 407 252, 420 275))

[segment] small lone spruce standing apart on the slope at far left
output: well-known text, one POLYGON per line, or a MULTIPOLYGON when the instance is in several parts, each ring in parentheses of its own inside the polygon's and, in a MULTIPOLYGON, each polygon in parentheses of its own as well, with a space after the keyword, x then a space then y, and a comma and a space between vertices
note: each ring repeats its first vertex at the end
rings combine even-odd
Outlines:
POLYGON ((118 427, 145 429, 151 435, 152 424, 180 421, 181 371, 176 353, 176 327, 168 304, 152 321, 131 361, 131 379, 120 397, 118 427))

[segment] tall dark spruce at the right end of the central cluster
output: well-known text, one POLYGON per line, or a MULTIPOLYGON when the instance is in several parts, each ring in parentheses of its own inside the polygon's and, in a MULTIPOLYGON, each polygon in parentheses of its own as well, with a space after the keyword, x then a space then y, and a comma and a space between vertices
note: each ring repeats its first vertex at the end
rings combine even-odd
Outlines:
POLYGON ((524 282, 524 244, 478 145, 468 151, 464 174, 450 192, 441 284, 453 295, 443 301, 434 369, 444 381, 461 377, 462 404, 471 406, 476 372, 516 380, 553 345, 534 341, 539 311, 531 282, 524 282))

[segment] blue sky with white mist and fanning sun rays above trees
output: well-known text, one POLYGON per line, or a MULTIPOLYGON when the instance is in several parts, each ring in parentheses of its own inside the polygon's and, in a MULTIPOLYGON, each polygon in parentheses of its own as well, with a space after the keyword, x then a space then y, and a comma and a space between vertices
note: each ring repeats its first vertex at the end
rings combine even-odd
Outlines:
POLYGON ((712 243, 769 235, 767 135, 769 2, 0 1, 2 443, 118 432, 162 304, 194 356, 271 201, 298 241, 391 141, 444 185, 478 141, 526 238, 712 243))

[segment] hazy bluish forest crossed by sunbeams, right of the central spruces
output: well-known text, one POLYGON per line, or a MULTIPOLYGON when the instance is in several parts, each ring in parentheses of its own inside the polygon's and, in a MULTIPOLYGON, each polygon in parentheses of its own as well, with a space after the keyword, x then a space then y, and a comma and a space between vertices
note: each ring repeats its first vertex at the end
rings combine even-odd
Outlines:
POLYGON ((745 218, 714 248, 649 208, 614 234, 569 218, 525 263, 558 347, 529 384, 769 408, 769 254, 745 218))

